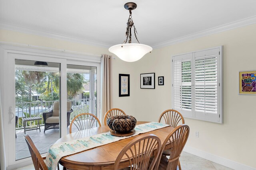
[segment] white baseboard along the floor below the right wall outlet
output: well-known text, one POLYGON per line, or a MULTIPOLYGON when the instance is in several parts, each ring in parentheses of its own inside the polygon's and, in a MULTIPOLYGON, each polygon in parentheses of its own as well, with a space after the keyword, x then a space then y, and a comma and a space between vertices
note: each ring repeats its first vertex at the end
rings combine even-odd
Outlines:
POLYGON ((226 167, 234 169, 234 170, 256 170, 255 168, 252 168, 250 166, 240 164, 238 162, 234 162, 234 161, 228 160, 226 158, 221 158, 219 156, 216 156, 216 155, 213 155, 213 154, 210 154, 210 153, 206 153, 204 151, 194 149, 192 147, 185 146, 183 151, 188 152, 190 154, 194 154, 194 155, 199 156, 201 158, 210 160, 212 162, 216 162, 217 164, 226 166, 226 167))

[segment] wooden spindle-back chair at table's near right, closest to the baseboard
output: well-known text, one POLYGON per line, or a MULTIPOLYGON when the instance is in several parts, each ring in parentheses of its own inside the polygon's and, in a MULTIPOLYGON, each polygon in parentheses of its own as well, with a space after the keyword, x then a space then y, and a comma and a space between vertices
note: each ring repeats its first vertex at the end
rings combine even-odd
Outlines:
POLYGON ((158 157, 156 163, 156 169, 158 170, 176 170, 177 166, 179 166, 179 170, 181 170, 180 166, 180 154, 188 140, 189 135, 189 127, 188 125, 179 125, 176 127, 165 139, 164 143, 161 147, 160 156, 158 157), (170 148, 170 158, 168 159, 166 156, 162 155, 164 149, 168 144, 170 148), (162 155, 162 156, 161 156, 162 155))

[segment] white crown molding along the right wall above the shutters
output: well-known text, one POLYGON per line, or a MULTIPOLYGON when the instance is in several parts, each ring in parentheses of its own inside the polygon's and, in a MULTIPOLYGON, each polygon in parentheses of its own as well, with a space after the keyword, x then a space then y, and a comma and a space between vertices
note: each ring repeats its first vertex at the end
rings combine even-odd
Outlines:
POLYGON ((246 25, 254 24, 254 23, 256 23, 256 16, 252 16, 252 17, 245 18, 245 19, 242 19, 242 20, 230 22, 230 23, 227 23, 227 24, 224 24, 224 25, 220 25, 218 27, 213 27, 213 28, 210 28, 210 29, 206 29, 204 31, 200 31, 200 32, 197 32, 197 33, 190 34, 190 35, 186 35, 186 36, 183 36, 183 37, 178 37, 176 39, 171 39, 169 41, 164 41, 162 43, 157 43, 157 44, 152 45, 152 48, 157 49, 157 48, 161 48, 161 47, 166 47, 168 45, 181 43, 181 42, 184 42, 184 41, 196 39, 196 38, 199 38, 199 37, 204 37, 206 35, 211 35, 211 34, 214 34, 214 33, 228 31, 230 29, 243 27, 243 26, 246 26, 246 25))

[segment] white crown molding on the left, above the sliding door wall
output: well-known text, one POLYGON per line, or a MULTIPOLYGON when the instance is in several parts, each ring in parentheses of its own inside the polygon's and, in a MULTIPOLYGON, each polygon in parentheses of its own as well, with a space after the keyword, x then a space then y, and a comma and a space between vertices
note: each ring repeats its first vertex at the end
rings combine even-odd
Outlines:
POLYGON ((68 35, 62 35, 62 34, 58 34, 58 33, 52 33, 52 32, 48 32, 48 31, 42 31, 39 29, 32 29, 32 28, 14 25, 14 24, 10 24, 10 23, 4 23, 4 22, 0 22, 0 28, 11 30, 11 31, 22 32, 22 33, 40 35, 40 36, 50 37, 50 38, 55 38, 55 39, 61 39, 61 40, 65 40, 65 41, 71 41, 74 43, 93 45, 93 46, 103 47, 103 48, 109 48, 110 46, 112 46, 111 44, 100 43, 97 41, 90 41, 87 39, 72 37, 72 36, 68 36, 68 35))

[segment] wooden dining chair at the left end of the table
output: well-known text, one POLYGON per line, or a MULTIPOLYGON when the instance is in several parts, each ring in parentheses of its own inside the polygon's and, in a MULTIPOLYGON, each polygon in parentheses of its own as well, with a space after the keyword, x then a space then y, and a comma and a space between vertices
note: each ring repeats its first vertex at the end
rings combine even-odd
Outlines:
MULTIPOLYGON (((31 154, 31 158, 33 160, 33 164, 35 167, 35 170, 48 170, 46 164, 44 163, 44 159, 46 156, 41 156, 38 150, 36 149, 36 146, 34 145, 31 138, 26 134, 24 135, 25 141, 28 144, 28 149, 31 154)), ((58 170, 59 170, 59 164, 58 164, 58 170)))

